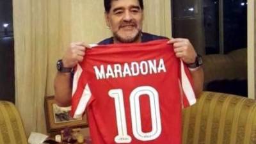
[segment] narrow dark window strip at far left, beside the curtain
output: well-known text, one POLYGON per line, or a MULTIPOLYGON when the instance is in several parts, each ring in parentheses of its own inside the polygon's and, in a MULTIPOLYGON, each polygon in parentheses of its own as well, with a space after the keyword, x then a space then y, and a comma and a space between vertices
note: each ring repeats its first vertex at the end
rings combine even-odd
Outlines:
POLYGON ((0 100, 15 102, 12 1, 0 0, 0 100), (8 24, 4 28, 3 24, 8 24))

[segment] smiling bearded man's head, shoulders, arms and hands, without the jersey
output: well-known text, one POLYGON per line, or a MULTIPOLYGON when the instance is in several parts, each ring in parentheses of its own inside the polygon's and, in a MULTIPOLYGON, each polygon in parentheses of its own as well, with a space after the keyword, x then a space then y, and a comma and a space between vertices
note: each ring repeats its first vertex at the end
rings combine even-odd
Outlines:
MULTIPOLYGON (((140 43, 163 39, 163 36, 142 33, 143 0, 104 0, 106 24, 113 33, 113 37, 103 40, 99 44, 140 43)), ((172 38, 175 55, 190 68, 193 77, 195 94, 202 92, 204 72, 198 63, 193 45, 185 38, 172 38)), ((85 49, 90 48, 84 42, 70 44, 63 59, 58 61, 58 74, 54 81, 55 99, 59 106, 70 106, 72 93, 71 70, 77 63, 84 60, 85 49)))

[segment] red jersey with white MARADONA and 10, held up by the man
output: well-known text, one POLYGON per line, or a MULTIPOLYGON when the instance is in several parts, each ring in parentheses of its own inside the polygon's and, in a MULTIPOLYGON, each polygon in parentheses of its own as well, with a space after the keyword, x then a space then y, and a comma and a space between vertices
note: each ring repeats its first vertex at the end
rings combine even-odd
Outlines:
POLYGON ((72 115, 87 109, 93 143, 181 143, 182 108, 196 99, 188 68, 166 42, 86 50, 74 76, 72 115))

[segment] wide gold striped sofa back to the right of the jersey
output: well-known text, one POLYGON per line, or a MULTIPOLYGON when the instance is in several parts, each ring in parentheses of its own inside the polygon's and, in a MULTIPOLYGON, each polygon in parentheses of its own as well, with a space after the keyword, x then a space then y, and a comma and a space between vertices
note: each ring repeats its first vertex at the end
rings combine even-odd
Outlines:
POLYGON ((256 143, 256 101, 225 93, 204 92, 183 110, 183 144, 256 143))

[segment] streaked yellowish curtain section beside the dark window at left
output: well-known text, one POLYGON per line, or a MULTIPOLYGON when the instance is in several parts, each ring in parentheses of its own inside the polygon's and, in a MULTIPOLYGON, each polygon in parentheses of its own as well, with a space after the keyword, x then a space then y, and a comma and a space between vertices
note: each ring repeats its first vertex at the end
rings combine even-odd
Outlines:
POLYGON ((69 0, 13 0, 15 103, 26 134, 45 133, 44 97, 53 95, 55 63, 70 42, 69 0))

